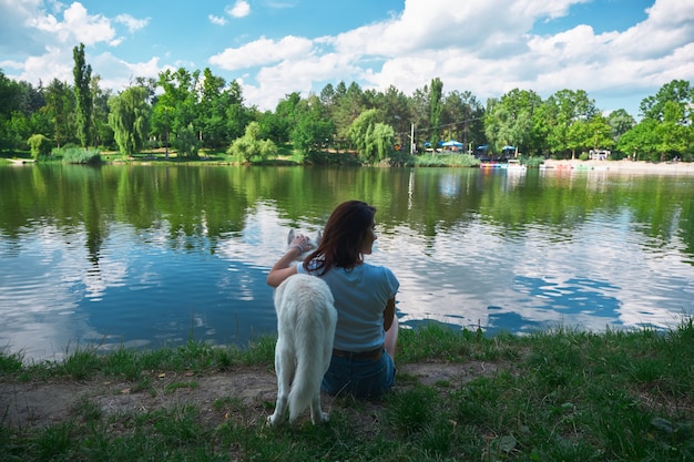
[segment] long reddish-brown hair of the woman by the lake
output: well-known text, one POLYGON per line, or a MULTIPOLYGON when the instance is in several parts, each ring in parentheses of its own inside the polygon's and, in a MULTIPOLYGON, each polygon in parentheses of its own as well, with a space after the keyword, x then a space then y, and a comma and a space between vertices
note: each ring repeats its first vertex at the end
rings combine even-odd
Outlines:
POLYGON ((374 226, 376 207, 361 201, 347 201, 335 207, 325 225, 318 248, 304 260, 308 269, 312 260, 319 275, 334 266, 351 268, 364 261, 361 245, 374 226))

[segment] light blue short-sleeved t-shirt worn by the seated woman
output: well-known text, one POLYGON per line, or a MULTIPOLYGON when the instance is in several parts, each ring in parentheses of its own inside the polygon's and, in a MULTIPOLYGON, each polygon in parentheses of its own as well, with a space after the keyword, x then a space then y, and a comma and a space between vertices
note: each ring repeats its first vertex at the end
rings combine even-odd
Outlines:
MULTIPOLYGON (((297 264, 297 273, 315 274, 303 263, 297 264)), ((337 309, 334 347, 368 351, 384 345, 384 310, 400 287, 392 271, 363 263, 349 269, 334 267, 320 278, 330 287, 337 309)))

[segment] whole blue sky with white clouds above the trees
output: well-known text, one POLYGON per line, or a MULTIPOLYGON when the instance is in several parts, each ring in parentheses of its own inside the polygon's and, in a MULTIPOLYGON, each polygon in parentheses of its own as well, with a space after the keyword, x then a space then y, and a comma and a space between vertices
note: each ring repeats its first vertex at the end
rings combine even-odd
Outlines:
POLYGON ((584 90, 625 109, 694 82, 692 0, 0 0, 0 69, 72 83, 83 42, 102 86, 165 69, 238 80, 247 104, 355 81, 410 95, 431 79, 480 102, 584 90))

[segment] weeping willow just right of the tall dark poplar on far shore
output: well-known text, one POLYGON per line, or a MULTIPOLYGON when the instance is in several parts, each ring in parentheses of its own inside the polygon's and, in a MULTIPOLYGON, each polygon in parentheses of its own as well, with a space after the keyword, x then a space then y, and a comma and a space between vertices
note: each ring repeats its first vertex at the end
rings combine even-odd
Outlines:
POLYGON ((147 89, 131 86, 109 100, 109 124, 122 154, 133 155, 147 140, 151 111, 147 99, 147 89))

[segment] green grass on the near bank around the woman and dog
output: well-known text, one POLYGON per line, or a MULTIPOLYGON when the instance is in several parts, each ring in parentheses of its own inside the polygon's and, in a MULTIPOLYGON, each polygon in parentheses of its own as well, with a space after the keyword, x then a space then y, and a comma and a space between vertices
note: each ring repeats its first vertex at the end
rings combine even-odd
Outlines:
MULTIPOLYGON (((144 370, 212 374, 271 368, 274 339, 247 349, 188 341, 160 350, 83 349, 62 362, 0 356, 0 380, 126 380, 144 370)), ((694 460, 694 325, 666 332, 558 328, 487 337, 436 324, 402 330, 398 365, 487 365, 460 383, 425 386, 399 374, 380 401, 335 400, 330 421, 269 428, 236 397, 216 400, 221 421, 198 407, 106 414, 80 399, 69 421, 0 429, 0 461, 691 461, 694 460), (494 368, 491 368, 491 366, 494 368), (221 423, 220 423, 221 422, 221 423)), ((196 383, 174 382, 177 388, 196 383)), ((269 411, 274 403, 256 403, 269 411)), ((2 410, 0 410, 2 419, 2 410)))

